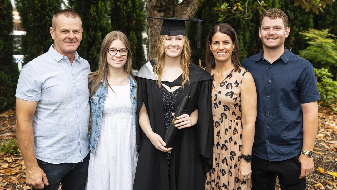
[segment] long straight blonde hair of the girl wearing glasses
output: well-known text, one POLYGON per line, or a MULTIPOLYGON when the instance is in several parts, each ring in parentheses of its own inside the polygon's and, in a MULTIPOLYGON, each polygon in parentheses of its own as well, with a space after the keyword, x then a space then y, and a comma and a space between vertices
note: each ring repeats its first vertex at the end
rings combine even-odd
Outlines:
POLYGON ((98 70, 89 74, 89 97, 92 97, 95 94, 101 80, 105 81, 107 87, 109 86, 111 88, 111 86, 109 85, 109 81, 106 79, 108 73, 108 61, 106 61, 106 52, 111 42, 116 39, 121 40, 125 44, 126 48, 129 50, 129 53, 127 54, 127 60, 124 65, 124 70, 133 78, 133 80, 135 80, 135 77, 132 73, 132 53, 130 51, 129 40, 123 32, 112 31, 106 34, 103 39, 101 50, 99 51, 98 70))

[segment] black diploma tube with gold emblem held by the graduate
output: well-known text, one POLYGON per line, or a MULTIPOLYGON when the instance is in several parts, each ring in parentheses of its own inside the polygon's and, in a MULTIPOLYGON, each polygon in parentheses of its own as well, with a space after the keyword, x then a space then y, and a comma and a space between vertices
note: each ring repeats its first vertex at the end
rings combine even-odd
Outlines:
POLYGON ((190 96, 187 96, 186 94, 184 94, 183 97, 181 98, 179 105, 177 106, 177 110, 174 113, 173 119, 171 121, 170 126, 168 126, 168 129, 167 129, 167 132, 164 138, 164 142, 166 143, 165 148, 171 147, 174 141, 174 138, 177 135, 177 131, 178 131, 178 128, 175 126, 174 122, 177 120, 177 117, 186 113, 187 106, 191 99, 192 98, 190 96))

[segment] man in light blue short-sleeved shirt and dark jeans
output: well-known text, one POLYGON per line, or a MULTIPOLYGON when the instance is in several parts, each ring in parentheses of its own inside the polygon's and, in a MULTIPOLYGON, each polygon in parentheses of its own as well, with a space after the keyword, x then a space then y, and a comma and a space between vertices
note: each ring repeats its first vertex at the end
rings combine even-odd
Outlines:
POLYGON ((76 49, 82 21, 73 10, 53 17, 55 44, 27 63, 17 86, 17 138, 33 189, 84 190, 89 163, 89 63, 76 49))

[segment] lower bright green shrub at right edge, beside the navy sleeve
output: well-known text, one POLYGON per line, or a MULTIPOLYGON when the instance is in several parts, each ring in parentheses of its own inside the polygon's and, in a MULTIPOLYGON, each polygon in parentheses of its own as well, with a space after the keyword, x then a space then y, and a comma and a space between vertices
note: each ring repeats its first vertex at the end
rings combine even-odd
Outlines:
POLYGON ((317 87, 320 95, 320 105, 330 106, 337 102, 337 81, 331 79, 332 74, 328 69, 316 69, 317 87))

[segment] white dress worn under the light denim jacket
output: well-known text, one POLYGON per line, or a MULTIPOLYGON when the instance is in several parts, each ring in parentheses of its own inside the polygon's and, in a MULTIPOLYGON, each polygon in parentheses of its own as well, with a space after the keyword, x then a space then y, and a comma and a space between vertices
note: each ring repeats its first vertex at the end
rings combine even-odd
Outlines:
POLYGON ((136 139, 130 85, 108 88, 95 155, 90 155, 87 190, 132 190, 136 139))

